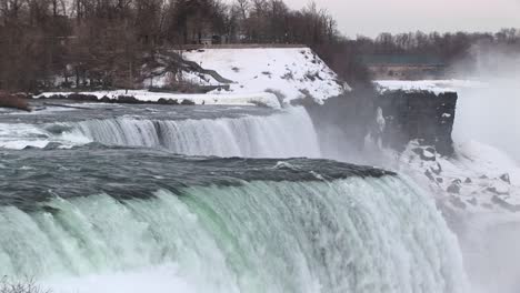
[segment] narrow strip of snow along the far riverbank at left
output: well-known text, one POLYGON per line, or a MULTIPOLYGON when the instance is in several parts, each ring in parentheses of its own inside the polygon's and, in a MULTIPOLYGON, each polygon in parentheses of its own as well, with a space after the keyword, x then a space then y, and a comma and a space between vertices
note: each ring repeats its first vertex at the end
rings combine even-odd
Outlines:
POLYGON ((107 97, 111 100, 116 100, 120 95, 133 97, 142 102, 158 102, 160 99, 164 100, 177 100, 179 103, 182 101, 191 101, 194 104, 226 104, 226 105, 266 105, 273 109, 280 109, 280 102, 273 93, 269 92, 257 92, 257 93, 211 93, 211 94, 178 94, 178 93, 163 93, 163 92, 150 92, 147 90, 117 90, 117 91, 93 91, 93 92, 44 92, 38 97, 50 98, 52 95, 64 95, 72 93, 90 94, 96 95, 99 100, 107 97))

